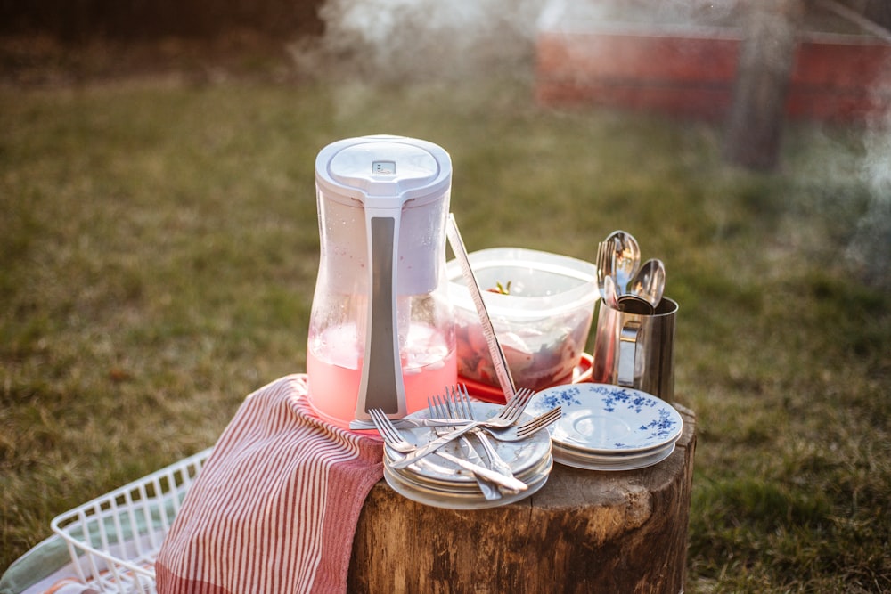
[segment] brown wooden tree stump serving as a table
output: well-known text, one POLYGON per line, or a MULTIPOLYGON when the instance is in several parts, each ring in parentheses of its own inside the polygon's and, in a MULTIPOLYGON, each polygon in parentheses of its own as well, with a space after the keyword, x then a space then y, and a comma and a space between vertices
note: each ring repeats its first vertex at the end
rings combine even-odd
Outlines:
POLYGON ((353 542, 347 591, 683 591, 696 419, 650 468, 598 472, 554 464, 541 491, 494 509, 439 509, 380 481, 353 542))

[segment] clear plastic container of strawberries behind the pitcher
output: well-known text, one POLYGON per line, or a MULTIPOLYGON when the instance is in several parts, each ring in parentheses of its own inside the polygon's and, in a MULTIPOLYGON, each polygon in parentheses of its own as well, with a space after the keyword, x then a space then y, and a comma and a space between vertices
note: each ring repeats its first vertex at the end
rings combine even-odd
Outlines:
MULTIPOLYGON (((597 267, 525 248, 483 249, 469 257, 516 387, 541 390, 566 383, 584 354, 600 298, 597 267)), ((497 387, 477 309, 457 260, 447 264, 446 274, 458 376, 497 387)))

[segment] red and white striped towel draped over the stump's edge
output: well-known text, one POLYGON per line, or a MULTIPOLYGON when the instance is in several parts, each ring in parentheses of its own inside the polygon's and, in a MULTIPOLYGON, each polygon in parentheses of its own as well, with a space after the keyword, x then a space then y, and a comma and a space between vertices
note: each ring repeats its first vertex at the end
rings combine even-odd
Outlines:
POLYGON ((159 594, 345 592, 382 445, 319 419, 307 378, 248 396, 220 436, 155 563, 159 594))

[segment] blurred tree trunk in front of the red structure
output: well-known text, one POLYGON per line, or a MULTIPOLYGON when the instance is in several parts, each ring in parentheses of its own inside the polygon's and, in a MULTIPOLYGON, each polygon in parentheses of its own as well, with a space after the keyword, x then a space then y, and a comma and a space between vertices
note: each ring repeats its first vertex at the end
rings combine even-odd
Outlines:
POLYGON ((789 76, 804 0, 749 0, 724 160, 771 170, 779 160, 789 76))

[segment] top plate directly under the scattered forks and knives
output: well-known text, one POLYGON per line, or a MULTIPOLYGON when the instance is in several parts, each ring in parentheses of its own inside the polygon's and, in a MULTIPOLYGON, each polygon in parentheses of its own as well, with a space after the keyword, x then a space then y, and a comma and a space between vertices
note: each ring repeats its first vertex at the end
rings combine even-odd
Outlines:
MULTIPOLYGON (((493 417, 503 408, 502 406, 490 403, 475 402, 472 403, 472 405, 473 414, 477 419, 488 419, 489 417, 493 417)), ((428 409, 413 412, 406 416, 406 419, 429 418, 430 415, 428 409)), ((519 422, 522 423, 523 420, 526 419, 528 419, 528 417, 524 414, 519 422)), ((413 443, 414 445, 423 445, 437 438, 436 431, 429 427, 400 429, 399 433, 402 434, 406 442, 413 443)), ((476 440, 476 438, 472 436, 470 439, 471 441, 476 440)), ((501 442, 491 436, 489 437, 489 441, 495 447, 495 452, 498 452, 498 455, 501 456, 502 460, 511 466, 511 470, 515 476, 522 475, 529 468, 535 467, 536 464, 547 458, 551 453, 551 439, 545 431, 539 431, 535 433, 535 435, 520 442, 501 442)), ((462 454, 462 441, 460 439, 455 439, 450 443, 446 443, 442 449, 444 452, 451 453, 459 458, 466 458, 466 456, 462 454)), ((482 450, 481 448, 477 449, 479 451, 482 450)), ((401 457, 401 454, 388 447, 385 447, 385 450, 389 460, 396 460, 401 457)), ((479 455, 485 460, 485 452, 480 453, 479 455)), ((473 477, 472 473, 455 466, 453 462, 438 457, 435 452, 418 460, 408 468, 414 473, 431 480, 446 481, 448 483, 457 481, 460 483, 476 484, 476 479, 473 477)))

